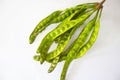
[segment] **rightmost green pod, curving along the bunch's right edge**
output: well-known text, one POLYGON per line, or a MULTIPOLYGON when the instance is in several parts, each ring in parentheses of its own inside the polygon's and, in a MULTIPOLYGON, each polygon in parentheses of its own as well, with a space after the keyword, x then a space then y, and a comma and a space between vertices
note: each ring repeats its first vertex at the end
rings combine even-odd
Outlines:
MULTIPOLYGON (((102 11, 100 12, 100 16, 101 16, 102 11)), ((92 45, 95 43, 97 36, 98 36, 98 32, 99 32, 99 28, 100 28, 100 16, 98 18, 98 21, 96 22, 95 26, 94 26, 94 30, 90 36, 90 39, 88 40, 88 42, 79 50, 79 53, 75 56, 75 58, 80 58, 82 57, 91 47, 92 45)))

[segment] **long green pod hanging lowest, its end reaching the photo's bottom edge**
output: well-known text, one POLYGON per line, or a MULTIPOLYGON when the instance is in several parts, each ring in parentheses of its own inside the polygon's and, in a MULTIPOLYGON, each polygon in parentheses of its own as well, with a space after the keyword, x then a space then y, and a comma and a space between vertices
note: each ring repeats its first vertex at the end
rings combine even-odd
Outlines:
POLYGON ((78 52, 79 48, 81 48, 83 46, 83 44, 85 43, 89 33, 93 29, 95 21, 96 21, 96 16, 90 22, 88 22, 88 24, 85 26, 85 28, 80 33, 78 38, 72 43, 72 46, 70 46, 69 50, 67 51, 66 61, 65 61, 65 64, 64 64, 64 67, 62 70, 60 80, 65 80, 67 70, 68 70, 68 67, 69 67, 71 61, 74 59, 74 56, 78 52))

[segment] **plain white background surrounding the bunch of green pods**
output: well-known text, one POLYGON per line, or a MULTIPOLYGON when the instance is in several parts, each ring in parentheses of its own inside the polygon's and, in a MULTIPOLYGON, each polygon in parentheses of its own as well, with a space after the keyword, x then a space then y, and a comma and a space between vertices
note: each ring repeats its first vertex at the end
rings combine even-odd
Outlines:
MULTIPOLYGON (((0 0, 0 80, 59 80, 63 63, 51 74, 33 55, 46 32, 34 44, 36 24, 58 9, 101 0, 0 0)), ((87 54, 70 65, 67 80, 120 80, 120 0, 107 0, 98 39, 87 54)), ((53 28, 53 26, 51 26, 53 28)))

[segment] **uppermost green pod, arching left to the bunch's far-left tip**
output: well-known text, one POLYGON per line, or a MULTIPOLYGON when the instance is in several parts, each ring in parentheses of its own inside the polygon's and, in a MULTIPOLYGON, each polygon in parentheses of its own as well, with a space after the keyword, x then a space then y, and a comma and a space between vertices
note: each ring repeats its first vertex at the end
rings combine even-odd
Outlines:
MULTIPOLYGON (((87 5, 87 6, 89 6, 89 7, 91 6, 91 8, 94 7, 94 5, 90 5, 90 4, 87 5)), ((30 44, 32 44, 34 42, 36 36, 40 32, 42 32, 47 26, 49 26, 52 23, 58 23, 60 21, 63 21, 65 18, 70 16, 72 13, 74 13, 78 9, 84 9, 85 10, 86 9, 86 4, 82 4, 82 5, 76 6, 74 8, 69 8, 69 9, 66 9, 65 11, 63 11, 63 10, 54 11, 49 16, 44 18, 42 21, 40 21, 38 23, 38 25, 35 27, 35 29, 31 33, 31 35, 29 37, 30 44)))

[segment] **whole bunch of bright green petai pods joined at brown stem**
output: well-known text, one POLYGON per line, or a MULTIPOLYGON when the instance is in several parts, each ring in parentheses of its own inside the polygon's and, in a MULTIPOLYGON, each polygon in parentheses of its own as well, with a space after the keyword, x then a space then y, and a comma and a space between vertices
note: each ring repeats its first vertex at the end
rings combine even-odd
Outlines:
POLYGON ((37 35, 49 25, 59 24, 43 38, 34 59, 41 64, 44 61, 51 63, 48 69, 49 73, 55 69, 59 62, 65 61, 60 77, 60 80, 65 80, 68 67, 72 60, 82 57, 96 41, 103 9, 102 4, 104 2, 105 0, 100 3, 85 3, 65 10, 57 10, 40 21, 29 37, 30 44, 32 44, 37 35), (81 27, 86 20, 89 21, 79 36, 66 49, 75 31, 81 27), (53 42, 57 44, 57 47, 55 50, 48 52, 53 42))

